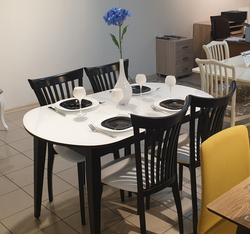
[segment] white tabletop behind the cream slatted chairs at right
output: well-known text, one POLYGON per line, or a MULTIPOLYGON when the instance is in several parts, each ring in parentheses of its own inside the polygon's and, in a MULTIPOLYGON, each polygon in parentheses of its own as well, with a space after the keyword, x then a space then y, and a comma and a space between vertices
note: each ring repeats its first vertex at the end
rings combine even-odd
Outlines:
MULTIPOLYGON (((246 67, 244 59, 241 55, 222 60, 221 62, 235 65, 237 83, 250 86, 250 68, 246 67)), ((194 73, 200 73, 199 67, 193 68, 192 71, 194 73)))

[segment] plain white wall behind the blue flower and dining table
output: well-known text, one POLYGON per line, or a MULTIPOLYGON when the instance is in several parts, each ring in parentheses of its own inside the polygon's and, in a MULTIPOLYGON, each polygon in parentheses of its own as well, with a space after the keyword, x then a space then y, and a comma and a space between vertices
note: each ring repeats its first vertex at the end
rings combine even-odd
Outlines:
MULTIPOLYGON (((36 102, 28 78, 40 78, 119 59, 103 15, 110 7, 129 9, 123 43, 129 74, 156 73, 155 37, 192 37, 193 23, 249 0, 1 0, 0 88, 6 109, 36 102)), ((84 86, 90 88, 87 77, 84 86)))

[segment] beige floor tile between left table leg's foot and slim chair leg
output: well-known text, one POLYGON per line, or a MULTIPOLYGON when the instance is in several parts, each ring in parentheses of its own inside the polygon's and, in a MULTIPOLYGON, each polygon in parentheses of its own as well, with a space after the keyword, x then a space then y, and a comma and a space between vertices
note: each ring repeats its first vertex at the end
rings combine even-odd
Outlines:
MULTIPOLYGON (((85 196, 84 198, 85 207, 87 207, 88 197, 85 196)), ((79 190, 75 188, 70 189, 54 196, 53 202, 49 202, 48 200, 44 201, 43 205, 59 218, 64 219, 80 211, 79 190)))

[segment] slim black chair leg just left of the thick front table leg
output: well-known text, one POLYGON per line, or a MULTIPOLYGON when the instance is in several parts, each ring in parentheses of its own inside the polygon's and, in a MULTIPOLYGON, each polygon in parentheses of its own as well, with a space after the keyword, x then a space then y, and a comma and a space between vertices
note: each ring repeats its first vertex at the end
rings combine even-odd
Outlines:
POLYGON ((84 201, 84 184, 85 184, 85 162, 77 163, 78 170, 78 184, 79 184, 79 198, 80 198, 80 211, 82 225, 86 224, 85 221, 85 201, 84 201))

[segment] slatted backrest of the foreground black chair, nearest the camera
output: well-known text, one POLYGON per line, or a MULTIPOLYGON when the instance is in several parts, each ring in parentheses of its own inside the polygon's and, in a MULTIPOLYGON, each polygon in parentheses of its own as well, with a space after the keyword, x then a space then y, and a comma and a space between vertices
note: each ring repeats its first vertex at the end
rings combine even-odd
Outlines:
POLYGON ((140 193, 144 196, 150 195, 170 186, 176 180, 178 138, 188 107, 189 97, 186 98, 184 108, 174 115, 165 117, 131 115, 135 139, 138 195, 140 193), (140 129, 145 130, 142 140, 144 146, 141 146, 140 129), (143 150, 141 147, 144 147, 143 150), (143 157, 141 152, 144 152, 143 157))

